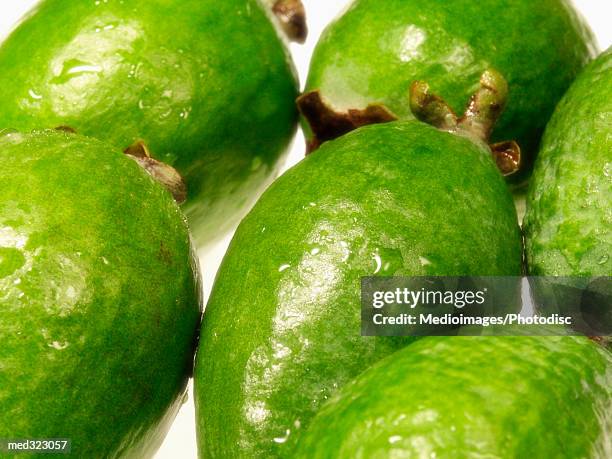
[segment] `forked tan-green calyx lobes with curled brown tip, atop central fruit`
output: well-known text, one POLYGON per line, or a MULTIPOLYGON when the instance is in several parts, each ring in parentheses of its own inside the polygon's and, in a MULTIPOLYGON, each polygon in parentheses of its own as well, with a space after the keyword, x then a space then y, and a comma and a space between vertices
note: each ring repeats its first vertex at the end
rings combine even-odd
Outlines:
MULTIPOLYGON (((449 132, 465 134, 489 143, 493 126, 501 116, 508 99, 508 84, 496 70, 486 70, 480 87, 470 98, 465 113, 458 118, 448 104, 431 93, 429 85, 415 81, 410 86, 410 109, 419 120, 449 132)), ((519 170, 521 149, 514 141, 489 144, 493 159, 504 175, 519 170)))

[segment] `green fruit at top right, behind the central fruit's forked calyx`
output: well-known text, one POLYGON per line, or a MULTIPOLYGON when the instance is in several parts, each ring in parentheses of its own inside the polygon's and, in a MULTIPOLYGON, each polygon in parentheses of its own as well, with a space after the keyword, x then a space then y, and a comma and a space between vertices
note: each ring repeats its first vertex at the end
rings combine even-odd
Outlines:
POLYGON ((555 105, 596 54, 593 34, 565 0, 356 0, 323 33, 307 90, 339 110, 382 103, 400 119, 415 80, 462 113, 485 69, 508 81, 492 141, 516 140, 523 181, 555 105))

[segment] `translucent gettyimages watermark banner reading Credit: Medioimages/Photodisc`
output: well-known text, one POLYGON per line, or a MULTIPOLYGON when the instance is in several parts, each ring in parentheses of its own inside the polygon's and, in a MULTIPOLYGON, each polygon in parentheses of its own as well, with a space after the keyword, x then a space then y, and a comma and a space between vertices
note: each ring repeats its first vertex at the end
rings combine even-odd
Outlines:
POLYGON ((364 336, 612 335, 604 277, 364 277, 364 336))

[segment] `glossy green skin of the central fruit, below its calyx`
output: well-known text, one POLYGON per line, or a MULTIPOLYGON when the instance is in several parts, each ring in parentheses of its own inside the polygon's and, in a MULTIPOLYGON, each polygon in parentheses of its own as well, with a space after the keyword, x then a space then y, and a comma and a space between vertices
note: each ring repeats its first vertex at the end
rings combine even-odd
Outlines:
POLYGON ((264 193, 217 275, 196 357, 200 457, 290 457, 338 387, 414 341, 361 336, 362 276, 520 273, 484 144, 417 121, 324 143, 264 193))

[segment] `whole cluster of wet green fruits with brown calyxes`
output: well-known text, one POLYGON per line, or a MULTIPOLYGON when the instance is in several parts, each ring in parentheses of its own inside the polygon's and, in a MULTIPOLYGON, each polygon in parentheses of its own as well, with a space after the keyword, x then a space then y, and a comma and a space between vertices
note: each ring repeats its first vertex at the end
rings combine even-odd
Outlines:
POLYGON ((152 455, 199 335, 202 458, 611 457, 609 350, 362 337, 359 281, 609 276, 612 51, 565 0, 355 0, 296 106, 303 19, 44 0, 0 46, 0 439, 152 455), (189 229, 253 205, 200 331, 189 229))

